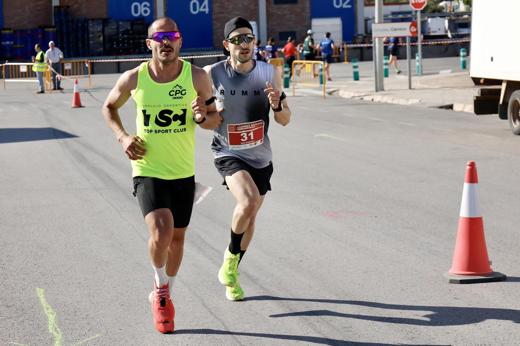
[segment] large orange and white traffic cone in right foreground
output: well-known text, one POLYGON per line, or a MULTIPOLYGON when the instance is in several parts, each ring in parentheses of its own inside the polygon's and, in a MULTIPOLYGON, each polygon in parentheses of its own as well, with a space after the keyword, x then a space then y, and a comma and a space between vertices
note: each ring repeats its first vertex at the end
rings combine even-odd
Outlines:
POLYGON ((480 211, 477 167, 473 161, 468 162, 466 167, 453 262, 451 269, 443 275, 443 278, 450 284, 495 282, 506 279, 504 274, 493 272, 490 267, 480 211))

